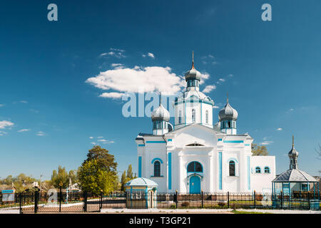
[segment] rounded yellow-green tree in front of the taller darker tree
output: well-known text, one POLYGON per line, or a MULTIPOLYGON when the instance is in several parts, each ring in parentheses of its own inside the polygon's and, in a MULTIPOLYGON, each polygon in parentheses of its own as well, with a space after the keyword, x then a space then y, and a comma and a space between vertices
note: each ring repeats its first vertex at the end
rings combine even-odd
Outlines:
POLYGON ((116 175, 103 169, 96 159, 88 160, 81 165, 78 178, 81 190, 92 192, 95 195, 101 192, 104 194, 112 192, 117 183, 116 175))

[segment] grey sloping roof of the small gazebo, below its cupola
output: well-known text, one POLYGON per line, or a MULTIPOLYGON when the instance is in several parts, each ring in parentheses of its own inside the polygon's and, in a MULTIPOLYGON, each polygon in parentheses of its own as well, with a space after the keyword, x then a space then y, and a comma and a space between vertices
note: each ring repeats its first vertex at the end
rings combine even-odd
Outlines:
POLYGON ((282 172, 272 182, 317 182, 317 180, 302 170, 292 169, 282 172))

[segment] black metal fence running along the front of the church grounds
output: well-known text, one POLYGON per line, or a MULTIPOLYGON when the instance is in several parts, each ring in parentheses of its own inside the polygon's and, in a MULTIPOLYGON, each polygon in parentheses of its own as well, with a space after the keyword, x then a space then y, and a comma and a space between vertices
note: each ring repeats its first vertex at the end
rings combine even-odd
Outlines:
POLYGON ((19 209, 20 213, 101 212, 101 209, 305 209, 320 210, 320 193, 283 194, 258 192, 201 192, 130 194, 113 192, 24 192, 8 197, 0 194, 0 209, 19 209))

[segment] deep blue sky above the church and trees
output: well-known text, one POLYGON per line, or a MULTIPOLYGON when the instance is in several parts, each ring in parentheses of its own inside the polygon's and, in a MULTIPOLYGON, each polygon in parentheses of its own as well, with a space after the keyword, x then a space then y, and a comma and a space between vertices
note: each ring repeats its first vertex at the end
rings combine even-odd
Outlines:
MULTIPOLYGON (((183 76, 192 51, 195 68, 208 76, 200 90, 215 86, 208 95, 220 108, 229 93, 239 113, 238 133, 248 132, 267 146, 276 156, 277 173, 288 168, 292 135, 299 168, 311 175, 321 170, 315 158, 321 143, 320 1, 4 1, 2 6, 0 177, 24 172, 50 179, 58 165, 68 170, 81 165, 91 142, 115 155, 118 170, 129 164, 136 170, 134 139, 151 133, 150 118, 124 118, 119 98, 100 96, 124 93, 128 83, 104 90, 87 80, 112 70, 135 73, 135 66, 146 77, 151 77, 147 67, 169 67, 168 75, 183 76), (58 6, 55 22, 47 20, 51 3, 58 6), (261 20, 265 3, 272 5, 272 21, 261 20)), ((171 81, 159 83, 173 88, 171 81)), ((215 122, 220 108, 213 109, 215 122)))

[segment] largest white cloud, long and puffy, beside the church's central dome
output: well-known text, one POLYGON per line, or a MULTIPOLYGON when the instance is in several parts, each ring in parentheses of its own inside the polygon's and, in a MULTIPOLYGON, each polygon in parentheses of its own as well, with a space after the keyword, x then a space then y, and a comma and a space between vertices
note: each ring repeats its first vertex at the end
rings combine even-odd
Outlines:
MULTIPOLYGON (((209 78, 208 73, 201 75, 202 83, 209 78)), ((86 80, 96 88, 116 90, 121 93, 141 93, 162 91, 164 95, 174 95, 186 86, 185 78, 171 72, 170 67, 148 66, 134 68, 118 68, 99 73, 96 77, 86 80)), ((121 97, 119 93, 103 93, 101 97, 121 97)))

